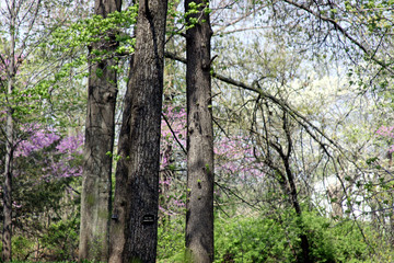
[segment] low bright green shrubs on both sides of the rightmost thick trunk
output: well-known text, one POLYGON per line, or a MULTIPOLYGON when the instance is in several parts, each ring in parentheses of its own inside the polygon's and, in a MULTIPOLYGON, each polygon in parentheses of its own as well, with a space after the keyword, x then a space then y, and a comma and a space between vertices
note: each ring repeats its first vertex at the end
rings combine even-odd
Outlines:
MULTIPOLYGON (((313 262, 390 262, 394 255, 386 237, 369 222, 360 228, 351 220, 335 221, 314 211, 304 213, 304 231, 311 242, 313 262), (384 260, 383 260, 384 259, 384 260)), ((218 214, 219 215, 219 214, 218 214)), ((178 219, 181 219, 178 217, 178 219)), ((183 225, 173 220, 159 228, 159 262, 184 262, 183 225)), ((301 256, 294 213, 280 217, 254 214, 216 219, 215 262, 297 262, 301 256)))

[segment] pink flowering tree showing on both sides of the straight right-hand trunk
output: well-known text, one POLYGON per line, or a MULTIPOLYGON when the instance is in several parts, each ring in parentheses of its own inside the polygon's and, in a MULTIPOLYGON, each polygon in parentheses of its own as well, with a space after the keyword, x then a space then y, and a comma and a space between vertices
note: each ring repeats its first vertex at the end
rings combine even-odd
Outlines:
MULTIPOLYGON (((165 106, 161 130, 160 211, 167 216, 183 215, 186 202, 186 110, 165 106)), ((217 183, 222 186, 216 190, 216 198, 220 198, 225 188, 263 180, 264 172, 255 155, 248 136, 216 136, 215 171, 217 183)))

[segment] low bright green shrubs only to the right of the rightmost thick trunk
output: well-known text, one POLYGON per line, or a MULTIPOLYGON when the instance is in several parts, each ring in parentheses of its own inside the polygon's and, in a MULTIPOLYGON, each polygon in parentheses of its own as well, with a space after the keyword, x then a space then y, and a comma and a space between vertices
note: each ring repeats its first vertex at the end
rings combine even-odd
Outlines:
MULTIPOLYGON (((264 215, 218 219, 216 262, 297 262, 301 255, 300 229, 292 214, 286 215, 285 211, 283 221, 264 215)), ((372 250, 381 251, 386 258, 393 253, 392 250, 381 250, 382 243, 367 244, 351 220, 337 222, 305 213, 303 222, 313 262, 370 262, 372 250)), ((371 240, 376 235, 368 227, 363 233, 371 240)))

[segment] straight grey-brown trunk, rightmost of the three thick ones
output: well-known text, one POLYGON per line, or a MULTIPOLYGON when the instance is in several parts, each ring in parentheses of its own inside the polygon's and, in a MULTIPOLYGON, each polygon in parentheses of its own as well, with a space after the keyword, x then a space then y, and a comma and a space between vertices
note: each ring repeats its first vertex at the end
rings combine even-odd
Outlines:
MULTIPOLYGON (((193 14, 199 23, 186 32, 187 201, 186 248, 192 262, 213 261, 213 129, 211 111, 209 14, 193 14)), ((192 15, 190 15, 192 16, 192 15)), ((189 16, 189 18, 190 18, 189 16)), ((188 18, 188 21, 189 21, 188 18)))

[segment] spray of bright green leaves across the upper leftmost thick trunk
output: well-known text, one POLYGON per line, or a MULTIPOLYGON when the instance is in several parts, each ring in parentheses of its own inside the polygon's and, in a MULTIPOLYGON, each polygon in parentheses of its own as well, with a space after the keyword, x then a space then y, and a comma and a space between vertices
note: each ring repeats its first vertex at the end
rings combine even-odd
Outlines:
MULTIPOLYGON (((136 39, 128 34, 129 28, 137 21, 138 5, 131 5, 127 10, 116 11, 108 14, 106 18, 101 15, 92 15, 84 20, 58 27, 50 35, 47 42, 40 44, 40 48, 53 47, 53 52, 60 54, 70 54, 71 60, 65 62, 60 70, 55 73, 53 80, 47 80, 49 84, 56 84, 59 80, 67 78, 76 68, 86 65, 88 60, 91 62, 100 62, 103 59, 115 57, 115 60, 120 60, 121 56, 134 53, 136 39), (114 52, 92 49, 91 56, 84 52, 79 52, 81 47, 90 47, 93 43, 101 41, 117 42, 114 52)), ((115 45, 115 44, 114 44, 115 45)), ((121 72, 121 66, 113 66, 114 70, 121 72)), ((97 75, 101 72, 97 71, 97 75)), ((77 73, 78 78, 83 79, 88 77, 86 72, 77 73)))

